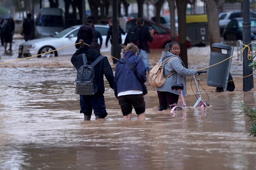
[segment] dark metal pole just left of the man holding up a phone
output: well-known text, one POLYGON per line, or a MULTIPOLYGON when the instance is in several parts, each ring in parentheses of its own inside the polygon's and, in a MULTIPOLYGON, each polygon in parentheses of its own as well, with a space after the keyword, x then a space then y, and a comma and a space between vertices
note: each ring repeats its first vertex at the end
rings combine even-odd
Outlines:
MULTIPOLYGON (((116 0, 113 0, 113 29, 112 29, 112 35, 113 35, 113 39, 112 39, 112 46, 113 46, 113 54, 114 57, 118 58, 118 25, 117 25, 117 3, 116 0)), ((120 54, 119 54, 120 55, 120 54)))

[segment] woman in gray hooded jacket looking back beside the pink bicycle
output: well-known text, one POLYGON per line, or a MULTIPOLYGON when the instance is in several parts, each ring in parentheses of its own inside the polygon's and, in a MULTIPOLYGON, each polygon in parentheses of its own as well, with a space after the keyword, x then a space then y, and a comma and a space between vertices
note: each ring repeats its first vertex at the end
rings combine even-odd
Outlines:
POLYGON ((170 58, 176 57, 163 65, 165 78, 172 74, 174 71, 176 71, 176 73, 166 79, 163 86, 156 87, 157 96, 159 99, 158 111, 171 108, 171 104, 178 102, 180 93, 179 91, 173 91, 171 89, 172 85, 183 84, 184 89, 182 90, 182 94, 183 96, 187 96, 186 76, 194 75, 197 72, 195 69, 186 68, 184 63, 181 61, 179 54, 180 44, 176 41, 172 41, 170 43, 169 51, 163 51, 162 57, 159 60, 159 63, 161 63, 161 61, 164 63, 170 58))

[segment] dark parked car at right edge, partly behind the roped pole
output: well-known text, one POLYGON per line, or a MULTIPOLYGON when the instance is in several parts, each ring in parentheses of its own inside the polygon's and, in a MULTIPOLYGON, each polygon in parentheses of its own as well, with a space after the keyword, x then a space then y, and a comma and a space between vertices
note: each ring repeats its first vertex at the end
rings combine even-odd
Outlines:
MULTIPOLYGON (((224 28, 223 38, 224 40, 242 40, 243 39, 243 18, 233 18, 228 25, 224 28)), ((251 18, 251 38, 254 39, 256 35, 256 18, 251 18)))

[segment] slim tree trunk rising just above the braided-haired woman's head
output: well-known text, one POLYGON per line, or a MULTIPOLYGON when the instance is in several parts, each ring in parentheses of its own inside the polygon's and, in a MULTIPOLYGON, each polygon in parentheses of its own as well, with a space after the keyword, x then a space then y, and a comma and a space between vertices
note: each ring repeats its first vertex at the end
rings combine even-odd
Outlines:
POLYGON ((175 0, 167 0, 169 4, 169 10, 170 10, 170 20, 171 20, 171 40, 176 40, 176 29, 175 29, 175 0))

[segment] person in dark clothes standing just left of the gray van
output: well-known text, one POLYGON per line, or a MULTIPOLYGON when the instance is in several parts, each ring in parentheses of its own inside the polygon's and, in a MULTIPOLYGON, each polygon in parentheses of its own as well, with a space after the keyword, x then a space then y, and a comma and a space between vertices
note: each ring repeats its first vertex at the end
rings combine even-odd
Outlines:
POLYGON ((34 19, 31 18, 31 14, 28 13, 27 18, 23 20, 22 28, 25 41, 31 40, 34 38, 35 24, 34 19))

